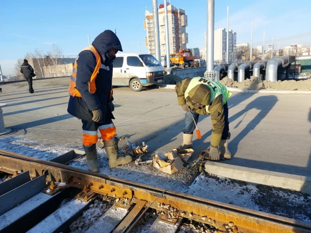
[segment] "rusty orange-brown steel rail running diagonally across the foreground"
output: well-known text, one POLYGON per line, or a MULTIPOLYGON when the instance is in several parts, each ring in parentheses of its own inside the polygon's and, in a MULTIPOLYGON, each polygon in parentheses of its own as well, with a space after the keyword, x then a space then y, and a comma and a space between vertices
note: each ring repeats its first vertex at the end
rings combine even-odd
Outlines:
MULTIPOLYGON (((138 182, 93 173, 62 164, 43 161, 0 149, 0 171, 13 174, 29 171, 30 177, 45 175, 46 181, 61 182, 58 189, 67 187, 88 188, 88 193, 145 200, 146 205, 158 198, 158 203, 177 209, 177 215, 214 225, 225 231, 228 223, 242 232, 311 232, 311 223, 257 210, 209 200, 202 197, 167 190, 138 182), (134 198, 135 197, 135 198, 134 198), (185 213, 185 214, 182 214, 185 213)), ((151 208, 160 209, 158 203, 151 208)), ((235 232, 234 230, 234 232, 235 232)))

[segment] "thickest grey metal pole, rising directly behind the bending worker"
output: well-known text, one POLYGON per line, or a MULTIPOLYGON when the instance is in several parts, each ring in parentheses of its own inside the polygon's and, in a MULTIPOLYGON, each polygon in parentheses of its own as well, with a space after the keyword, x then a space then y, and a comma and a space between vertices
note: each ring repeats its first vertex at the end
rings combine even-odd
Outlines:
MULTIPOLYGON (((165 0, 166 1, 166 0, 165 0)), ((207 0, 206 71, 214 70, 214 0, 207 0)))

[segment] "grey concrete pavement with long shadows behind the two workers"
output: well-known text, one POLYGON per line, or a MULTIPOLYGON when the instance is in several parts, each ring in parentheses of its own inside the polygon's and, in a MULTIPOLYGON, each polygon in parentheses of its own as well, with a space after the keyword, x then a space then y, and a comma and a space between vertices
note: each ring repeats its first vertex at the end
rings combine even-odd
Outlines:
MULTIPOLYGON (((34 81, 35 94, 28 93, 26 83, 2 85, 0 103, 8 104, 3 107, 6 127, 18 130, 12 136, 23 135, 47 147, 81 147, 81 121, 66 112, 68 83, 68 78, 34 81)), ((116 88, 114 98, 119 136, 145 141, 151 151, 170 151, 181 144, 184 111, 174 90, 135 93, 116 88)), ((235 93, 228 101, 234 158, 221 163, 311 176, 310 100, 306 94, 235 93)), ((194 136, 194 158, 209 145, 209 116, 200 116, 198 127, 202 139, 194 136)))

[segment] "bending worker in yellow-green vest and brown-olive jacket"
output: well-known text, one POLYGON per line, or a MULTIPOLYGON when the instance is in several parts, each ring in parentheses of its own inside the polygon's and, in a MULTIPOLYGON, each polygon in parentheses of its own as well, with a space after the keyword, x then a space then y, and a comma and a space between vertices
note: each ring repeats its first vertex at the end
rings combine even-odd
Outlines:
POLYGON ((211 115, 212 135, 209 156, 211 160, 219 160, 221 156, 231 159, 228 150, 230 139, 227 100, 232 95, 225 86, 203 77, 189 77, 176 84, 178 105, 186 111, 183 143, 181 149, 192 148, 193 131, 198 123, 199 115, 211 115), (192 118, 193 117, 193 118, 192 118))

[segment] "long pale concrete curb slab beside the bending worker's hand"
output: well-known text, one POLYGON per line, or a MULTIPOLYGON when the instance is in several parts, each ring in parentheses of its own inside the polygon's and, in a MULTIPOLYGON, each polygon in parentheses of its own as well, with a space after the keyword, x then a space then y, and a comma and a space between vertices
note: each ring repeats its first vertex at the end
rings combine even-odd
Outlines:
POLYGON ((211 161, 205 163, 205 171, 209 174, 229 179, 292 189, 311 195, 311 177, 246 168, 211 161))

